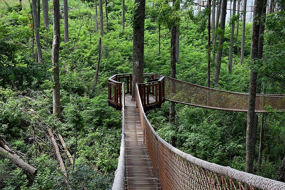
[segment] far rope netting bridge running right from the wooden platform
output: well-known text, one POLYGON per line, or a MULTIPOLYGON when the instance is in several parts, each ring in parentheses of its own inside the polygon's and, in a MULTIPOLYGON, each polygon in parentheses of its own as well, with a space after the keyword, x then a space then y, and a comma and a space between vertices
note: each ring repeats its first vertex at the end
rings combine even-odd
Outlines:
MULTIPOLYGON (((247 112, 248 94, 223 91, 165 77, 165 99, 197 107, 247 112)), ((285 95, 257 94, 255 112, 285 110, 285 95)))

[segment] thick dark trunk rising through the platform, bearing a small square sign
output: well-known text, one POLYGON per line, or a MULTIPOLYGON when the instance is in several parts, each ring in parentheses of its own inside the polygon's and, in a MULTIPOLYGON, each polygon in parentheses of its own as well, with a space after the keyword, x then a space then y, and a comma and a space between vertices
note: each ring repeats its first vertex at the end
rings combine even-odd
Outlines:
POLYGON ((135 6, 137 9, 134 12, 133 30, 132 101, 136 100, 136 83, 143 82, 145 0, 135 0, 135 6))

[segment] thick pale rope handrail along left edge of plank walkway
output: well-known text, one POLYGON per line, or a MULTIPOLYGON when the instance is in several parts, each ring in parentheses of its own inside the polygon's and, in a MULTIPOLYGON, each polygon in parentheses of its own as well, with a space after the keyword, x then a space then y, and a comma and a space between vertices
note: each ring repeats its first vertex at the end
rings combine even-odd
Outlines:
POLYGON ((118 168, 115 171, 115 178, 112 190, 124 190, 124 176, 125 176, 125 88, 124 83, 123 96, 122 96, 122 133, 121 133, 121 146, 120 156, 118 158, 118 168))

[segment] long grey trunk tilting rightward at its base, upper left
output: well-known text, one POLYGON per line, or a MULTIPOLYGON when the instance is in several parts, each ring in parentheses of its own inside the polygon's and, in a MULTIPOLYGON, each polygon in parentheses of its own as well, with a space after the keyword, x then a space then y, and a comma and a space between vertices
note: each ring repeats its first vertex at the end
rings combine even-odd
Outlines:
POLYGON ((35 39, 37 45, 37 55, 39 58, 40 63, 42 63, 42 46, 40 43, 39 38, 39 18, 37 13, 37 0, 32 0, 32 11, 33 11, 33 18, 34 18, 34 31, 35 31, 35 39))

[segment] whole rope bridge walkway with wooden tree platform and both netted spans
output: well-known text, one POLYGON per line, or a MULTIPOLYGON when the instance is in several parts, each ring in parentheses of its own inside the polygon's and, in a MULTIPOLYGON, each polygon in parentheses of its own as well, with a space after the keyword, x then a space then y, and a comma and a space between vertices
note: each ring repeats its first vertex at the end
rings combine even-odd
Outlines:
MULTIPOLYGON (((285 183, 206 162, 164 141, 145 114, 167 100, 216 110, 246 112, 248 94, 221 91, 171 77, 144 74, 131 101, 132 73, 108 79, 109 105, 122 111, 114 190, 285 190, 285 183), (126 86, 126 88, 125 88, 126 86)), ((258 94, 256 112, 285 110, 285 95, 258 94)))

